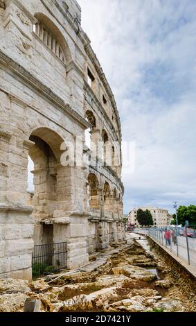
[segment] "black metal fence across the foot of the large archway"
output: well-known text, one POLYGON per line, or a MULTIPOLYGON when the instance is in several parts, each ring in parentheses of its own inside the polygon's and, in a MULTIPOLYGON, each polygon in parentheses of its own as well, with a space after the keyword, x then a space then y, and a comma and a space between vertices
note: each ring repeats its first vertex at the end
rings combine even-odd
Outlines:
POLYGON ((32 255, 33 278, 55 273, 66 268, 66 242, 34 246, 32 255))

